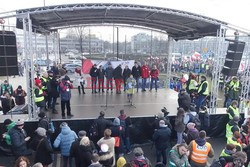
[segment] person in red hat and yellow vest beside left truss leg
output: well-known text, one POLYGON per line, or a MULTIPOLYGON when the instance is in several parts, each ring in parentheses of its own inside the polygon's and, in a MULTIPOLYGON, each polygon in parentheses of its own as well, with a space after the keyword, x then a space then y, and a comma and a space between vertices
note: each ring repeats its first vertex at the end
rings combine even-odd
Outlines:
POLYGON ((35 89, 34 89, 34 101, 36 106, 41 111, 44 111, 45 108, 45 92, 42 90, 42 84, 40 79, 35 80, 35 89))

